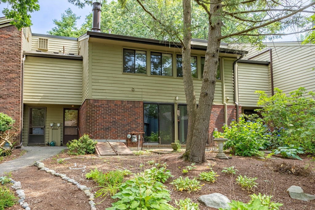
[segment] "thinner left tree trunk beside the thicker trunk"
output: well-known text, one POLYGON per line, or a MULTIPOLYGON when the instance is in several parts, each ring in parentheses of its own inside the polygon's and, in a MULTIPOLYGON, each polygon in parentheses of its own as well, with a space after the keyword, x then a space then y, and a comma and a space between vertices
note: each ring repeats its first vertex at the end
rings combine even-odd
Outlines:
POLYGON ((197 103, 195 97, 195 91, 192 81, 192 70, 190 64, 190 43, 192 39, 191 32, 191 1, 183 0, 183 13, 184 13, 184 24, 183 24, 183 43, 182 48, 182 67, 183 67, 183 81, 185 96, 187 101, 187 112, 188 112, 188 130, 187 130, 187 141, 186 151, 188 151, 192 144, 193 129, 195 125, 195 118, 197 112, 197 103))

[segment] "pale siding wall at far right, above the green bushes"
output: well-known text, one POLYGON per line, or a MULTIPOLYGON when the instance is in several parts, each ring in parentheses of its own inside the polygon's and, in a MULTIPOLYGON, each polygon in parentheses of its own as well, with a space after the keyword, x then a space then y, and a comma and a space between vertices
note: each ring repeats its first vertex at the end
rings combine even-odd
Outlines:
MULTIPOLYGON (((315 45, 301 45, 301 42, 267 43, 265 49, 272 48, 274 88, 280 88, 285 94, 305 87, 307 91, 315 91, 315 45)), ((255 49, 249 48, 248 58, 257 54, 255 49)), ((253 60, 270 61, 269 51, 253 60)), ((269 67, 270 71, 270 67, 269 67)), ((269 75, 269 81, 271 77, 269 75)), ((270 84, 271 86, 271 84, 270 84)), ((271 87, 269 87, 271 94, 271 87)))

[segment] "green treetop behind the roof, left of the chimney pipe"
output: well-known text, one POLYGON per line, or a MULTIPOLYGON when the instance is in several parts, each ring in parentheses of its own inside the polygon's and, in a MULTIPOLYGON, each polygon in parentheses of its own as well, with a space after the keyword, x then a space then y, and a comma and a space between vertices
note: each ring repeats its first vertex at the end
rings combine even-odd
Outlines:
POLYGON ((80 33, 76 25, 77 20, 79 20, 81 16, 74 14, 70 8, 66 9, 65 12, 66 14, 61 14, 61 20, 53 20, 56 27, 47 31, 47 34, 64 37, 79 37, 80 33))

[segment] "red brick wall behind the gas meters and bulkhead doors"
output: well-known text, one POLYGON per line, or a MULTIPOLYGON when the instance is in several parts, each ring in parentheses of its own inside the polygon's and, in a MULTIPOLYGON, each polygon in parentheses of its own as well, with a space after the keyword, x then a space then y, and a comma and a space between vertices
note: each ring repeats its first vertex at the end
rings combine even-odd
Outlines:
POLYGON ((80 133, 92 139, 125 139, 127 146, 135 147, 138 142, 130 142, 127 134, 142 130, 142 101, 86 99, 80 108, 80 133))

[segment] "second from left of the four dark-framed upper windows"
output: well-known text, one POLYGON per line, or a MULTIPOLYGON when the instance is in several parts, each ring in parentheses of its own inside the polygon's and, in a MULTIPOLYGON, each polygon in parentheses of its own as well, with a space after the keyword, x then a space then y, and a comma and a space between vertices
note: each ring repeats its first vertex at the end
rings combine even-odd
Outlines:
POLYGON ((173 76, 172 54, 151 52, 151 75, 173 76))

